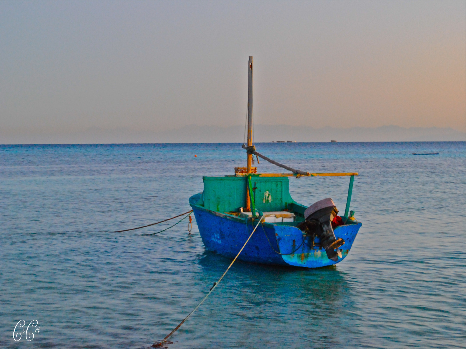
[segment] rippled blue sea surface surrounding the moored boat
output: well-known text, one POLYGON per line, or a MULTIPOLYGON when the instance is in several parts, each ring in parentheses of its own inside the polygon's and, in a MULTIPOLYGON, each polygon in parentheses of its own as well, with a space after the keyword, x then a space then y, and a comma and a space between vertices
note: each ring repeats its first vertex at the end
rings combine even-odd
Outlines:
MULTIPOLYGON (((169 348, 465 348, 465 142, 263 143, 313 172, 359 172, 363 223, 336 267, 236 262, 169 348), (439 152, 439 155, 412 153, 439 152)), ((0 146, 2 348, 146 348, 230 260, 187 221, 203 175, 245 166, 239 144, 0 146), (197 157, 194 157, 194 154, 197 157), (20 320, 40 332, 14 342, 20 320)), ((260 172, 281 172, 260 162, 260 172)), ((344 211, 349 177, 290 179, 344 211)), ((21 330, 20 330, 21 331, 21 330)))

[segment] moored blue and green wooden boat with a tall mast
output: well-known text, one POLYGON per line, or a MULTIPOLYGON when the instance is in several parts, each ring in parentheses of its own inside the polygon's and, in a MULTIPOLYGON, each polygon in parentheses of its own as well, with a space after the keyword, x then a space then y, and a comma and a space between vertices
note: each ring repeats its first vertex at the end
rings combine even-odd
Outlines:
POLYGON ((351 249, 362 223, 349 211, 358 173, 309 173, 256 151, 253 145, 253 57, 248 62, 247 167, 234 175, 204 176, 204 190, 189 199, 206 250, 245 262, 320 268, 339 263, 351 249), (289 173, 257 173, 253 156, 289 173), (344 215, 331 198, 307 207, 289 194, 289 177, 349 176, 344 215))

